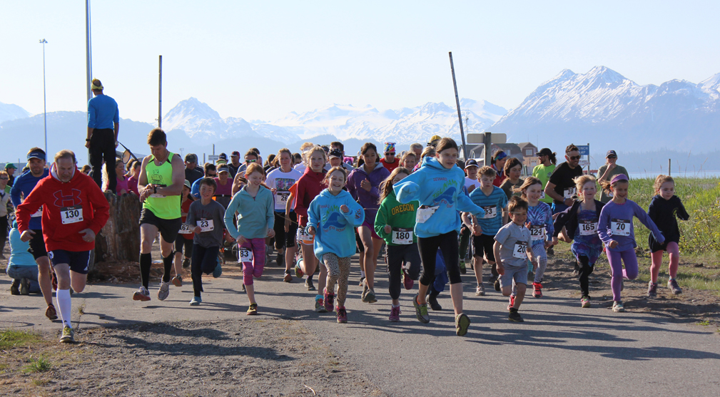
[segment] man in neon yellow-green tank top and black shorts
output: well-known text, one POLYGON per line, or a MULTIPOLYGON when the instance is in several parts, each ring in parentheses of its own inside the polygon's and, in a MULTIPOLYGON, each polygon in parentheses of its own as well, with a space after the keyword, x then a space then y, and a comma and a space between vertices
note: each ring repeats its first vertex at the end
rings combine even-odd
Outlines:
POLYGON ((185 164, 180 155, 168 151, 168 140, 162 129, 148 134, 150 155, 143 159, 138 190, 143 211, 140 213, 140 278, 143 285, 132 295, 135 301, 149 301, 150 250, 160 232, 160 249, 165 273, 158 291, 164 301, 170 294, 170 272, 173 266, 173 246, 182 224, 180 195, 185 183, 185 164))

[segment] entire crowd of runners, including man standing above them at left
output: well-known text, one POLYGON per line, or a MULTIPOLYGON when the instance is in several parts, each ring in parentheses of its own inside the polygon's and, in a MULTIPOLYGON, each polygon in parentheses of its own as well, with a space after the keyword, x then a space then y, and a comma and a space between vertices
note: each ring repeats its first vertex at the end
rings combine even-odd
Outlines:
POLYGON ((181 288, 182 268, 190 268, 191 306, 202 305, 202 275, 220 277, 220 257, 234 246, 248 315, 262 310, 262 291, 256 291, 253 280, 261 278, 274 252, 276 263, 284 266, 284 282, 304 279, 312 291, 308 310, 334 311, 336 320, 345 323, 351 257, 359 255, 361 301, 377 302, 382 292, 376 291, 376 276, 387 273, 389 321, 400 321, 400 292, 403 287, 412 291, 417 282, 415 316, 428 323, 428 305, 441 310, 437 296, 449 284, 456 334, 462 336, 471 322, 463 312, 461 278, 468 268, 475 275, 475 296, 485 296, 486 285, 494 288, 508 296, 508 319, 523 321, 519 309, 526 290, 531 287, 534 298, 543 296, 547 257, 562 240, 571 244, 577 260, 580 306, 591 306, 588 278, 604 252, 612 270, 612 310, 620 312, 623 280, 638 275, 634 217, 651 231, 648 296, 657 295, 663 252, 669 255, 667 286, 673 294, 682 292, 675 280, 677 218, 689 215, 675 196, 674 182, 657 176, 646 212, 627 199, 629 177, 616 165, 613 150, 597 179, 583 173, 575 145, 565 148, 565 162, 559 165, 552 150, 540 150, 540 164, 523 178, 518 158, 498 150, 490 165, 480 167, 477 160, 459 160, 456 142, 438 136, 402 152, 392 142, 382 151, 366 143, 356 157, 345 155, 342 142, 306 142, 300 153, 282 149, 265 162, 251 148, 243 160, 238 151, 230 159, 222 153, 201 170, 197 155, 181 158, 168 150, 165 132, 153 129, 147 141, 151 154, 126 166, 107 155, 117 146, 117 104, 102 98, 99 81, 92 88, 96 97, 89 108, 95 109, 89 111, 86 141, 92 167, 78 169, 69 150, 48 164, 45 152, 33 147, 28 169, 12 183, 8 172, 0 171, 0 207, 8 210, 4 222, 15 219, 9 222, 11 292, 42 293, 45 316, 54 320, 59 315, 63 321, 60 342, 74 341, 71 293, 83 291, 94 239, 109 218, 103 191, 135 194, 142 203, 135 301, 152 299, 156 239, 163 263, 158 300, 168 298, 171 285, 181 288), (102 102, 94 103, 98 98, 102 102), (383 252, 387 272, 378 272, 383 252))

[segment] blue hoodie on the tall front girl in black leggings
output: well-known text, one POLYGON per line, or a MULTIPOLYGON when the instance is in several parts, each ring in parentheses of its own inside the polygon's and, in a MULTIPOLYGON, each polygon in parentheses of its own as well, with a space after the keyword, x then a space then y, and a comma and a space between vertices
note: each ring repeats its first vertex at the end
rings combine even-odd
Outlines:
POLYGON ((463 193, 464 186, 465 173, 459 167, 447 169, 436 158, 424 158, 420 169, 395 183, 392 189, 402 204, 420 201, 415 234, 425 238, 453 230, 459 232, 459 211, 475 216, 485 214, 463 193))

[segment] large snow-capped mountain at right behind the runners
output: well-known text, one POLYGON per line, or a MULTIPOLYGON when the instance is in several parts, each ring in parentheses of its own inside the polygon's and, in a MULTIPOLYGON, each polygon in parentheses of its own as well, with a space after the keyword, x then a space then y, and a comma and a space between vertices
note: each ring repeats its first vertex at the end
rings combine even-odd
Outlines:
POLYGON ((640 86, 603 66, 562 70, 487 130, 508 142, 538 141, 560 152, 574 142, 591 150, 675 147, 708 150, 720 144, 720 74, 695 84, 672 80, 640 86))

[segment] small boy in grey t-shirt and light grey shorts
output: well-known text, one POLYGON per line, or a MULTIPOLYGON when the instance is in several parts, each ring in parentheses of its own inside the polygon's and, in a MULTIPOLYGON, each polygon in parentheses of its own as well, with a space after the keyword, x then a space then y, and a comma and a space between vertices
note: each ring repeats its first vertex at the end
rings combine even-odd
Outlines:
POLYGON ((513 196, 508 202, 508 213, 510 222, 495 234, 493 252, 495 252, 495 260, 498 261, 500 288, 504 296, 510 296, 508 319, 522 322, 523 318, 518 313, 518 309, 525 298, 528 283, 527 260, 529 258, 534 266, 537 266, 537 261, 531 249, 531 232, 525 227, 528 219, 527 201, 513 196), (513 288, 517 290, 516 295, 512 293, 513 288))

